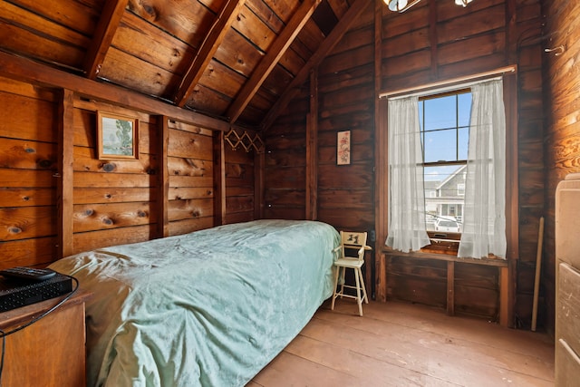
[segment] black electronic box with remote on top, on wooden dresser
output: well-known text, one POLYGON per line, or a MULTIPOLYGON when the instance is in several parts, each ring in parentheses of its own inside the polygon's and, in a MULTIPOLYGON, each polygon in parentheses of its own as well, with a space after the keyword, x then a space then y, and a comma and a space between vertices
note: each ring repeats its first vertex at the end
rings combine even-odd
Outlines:
POLYGON ((72 278, 57 272, 53 273, 50 278, 43 281, 14 276, 0 278, 0 312, 71 293, 72 278))

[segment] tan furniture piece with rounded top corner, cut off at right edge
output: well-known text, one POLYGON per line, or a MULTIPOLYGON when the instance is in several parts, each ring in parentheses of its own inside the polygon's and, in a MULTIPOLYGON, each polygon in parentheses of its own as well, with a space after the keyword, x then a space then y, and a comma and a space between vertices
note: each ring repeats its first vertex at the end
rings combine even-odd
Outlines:
POLYGON ((580 173, 556 189, 556 386, 580 377, 580 173))

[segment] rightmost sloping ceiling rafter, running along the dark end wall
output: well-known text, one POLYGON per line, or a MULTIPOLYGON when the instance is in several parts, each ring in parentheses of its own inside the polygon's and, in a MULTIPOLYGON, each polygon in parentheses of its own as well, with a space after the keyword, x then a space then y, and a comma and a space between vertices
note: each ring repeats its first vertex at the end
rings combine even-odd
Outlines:
POLYGON ((268 111, 260 125, 262 131, 266 131, 272 123, 274 123, 278 115, 294 98, 296 92, 300 90, 300 87, 304 84, 306 78, 308 78, 310 71, 318 66, 318 64, 324 60, 324 57, 333 50, 334 46, 343 38, 343 35, 348 31, 353 22, 369 5, 372 5, 372 2, 369 2, 368 0, 356 0, 354 4, 351 5, 346 14, 341 18, 340 22, 338 22, 338 24, 333 28, 333 31, 328 34, 323 43, 320 44, 318 50, 316 50, 308 62, 304 64, 300 72, 296 74, 294 80, 288 84, 285 91, 282 93, 282 96, 274 103, 274 106, 272 106, 272 109, 268 111))

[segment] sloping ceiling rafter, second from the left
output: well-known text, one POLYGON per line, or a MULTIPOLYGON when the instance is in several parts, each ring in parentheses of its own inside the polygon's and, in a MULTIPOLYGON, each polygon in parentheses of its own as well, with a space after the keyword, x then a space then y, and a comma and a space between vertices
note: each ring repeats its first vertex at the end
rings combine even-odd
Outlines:
POLYGON ((236 20, 237 14, 244 6, 246 0, 227 0, 226 4, 221 9, 218 18, 214 21, 209 29, 206 38, 198 49, 196 57, 189 66, 189 70, 183 76, 179 84, 178 91, 175 94, 173 102, 179 107, 183 107, 188 102, 189 95, 193 89, 198 85, 199 79, 208 68, 209 62, 221 42, 229 32, 229 28, 236 20))

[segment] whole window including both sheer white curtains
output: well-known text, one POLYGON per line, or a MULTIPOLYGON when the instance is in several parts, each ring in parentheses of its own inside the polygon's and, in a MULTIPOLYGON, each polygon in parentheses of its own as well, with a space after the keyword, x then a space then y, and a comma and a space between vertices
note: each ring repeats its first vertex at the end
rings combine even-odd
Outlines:
POLYGON ((506 131, 509 94, 501 78, 450 90, 391 97, 383 105, 379 140, 386 155, 377 159, 377 169, 386 179, 378 181, 386 197, 380 198, 385 213, 378 225, 384 219, 385 245, 400 252, 455 236, 457 247, 448 254, 506 257, 506 219, 514 214, 505 210, 506 192, 514 192, 506 181, 517 168, 512 163, 507 169, 507 146, 517 146, 515 131, 506 131))

